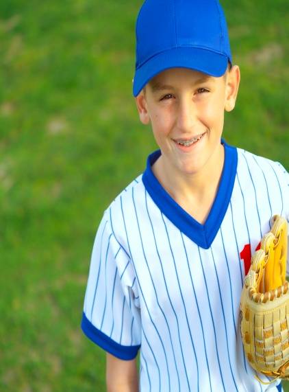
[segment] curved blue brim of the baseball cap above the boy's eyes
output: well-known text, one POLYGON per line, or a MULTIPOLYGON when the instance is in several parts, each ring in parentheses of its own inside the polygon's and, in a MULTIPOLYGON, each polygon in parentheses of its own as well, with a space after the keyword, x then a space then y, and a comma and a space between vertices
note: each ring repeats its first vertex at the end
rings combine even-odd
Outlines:
POLYGON ((216 78, 222 76, 230 60, 224 54, 196 47, 177 47, 162 51, 136 69, 133 93, 136 97, 147 82, 158 73, 170 68, 189 68, 216 78))

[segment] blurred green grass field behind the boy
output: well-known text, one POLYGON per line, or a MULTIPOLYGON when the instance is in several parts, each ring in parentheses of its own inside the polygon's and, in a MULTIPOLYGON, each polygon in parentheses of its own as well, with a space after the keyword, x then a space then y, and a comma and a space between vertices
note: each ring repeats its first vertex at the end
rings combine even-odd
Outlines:
MULTIPOLYGON (((225 139, 288 169, 288 1, 222 3, 242 72, 225 139)), ((131 95, 140 4, 0 2, 0 391, 105 391, 79 323, 103 210, 155 148, 131 95)))

